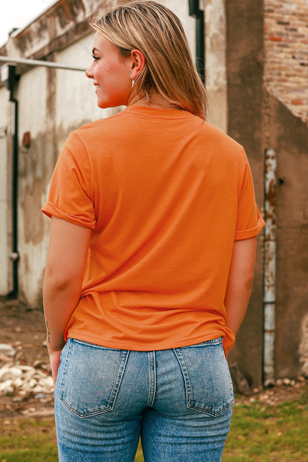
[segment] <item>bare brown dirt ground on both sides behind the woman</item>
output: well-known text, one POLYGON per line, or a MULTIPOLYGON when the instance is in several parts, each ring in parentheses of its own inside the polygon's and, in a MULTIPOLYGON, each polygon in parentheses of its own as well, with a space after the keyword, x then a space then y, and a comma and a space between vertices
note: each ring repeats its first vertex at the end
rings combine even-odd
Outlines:
MULTIPOLYGON (((34 366, 41 375, 51 375, 41 309, 30 308, 18 300, 0 298, 0 334, 0 343, 12 346, 16 352, 13 357, 0 352, 0 368, 4 365, 34 366)), ((236 404, 261 401, 264 405, 275 406, 283 401, 297 399, 304 391, 308 391, 308 380, 303 377, 293 380, 285 377, 284 382, 280 381, 279 386, 269 389, 250 390, 247 395, 237 397, 236 404)), ((53 412, 53 394, 36 393, 29 389, 20 395, 18 389, 13 389, 0 395, 0 419, 47 417, 53 415, 53 412)))

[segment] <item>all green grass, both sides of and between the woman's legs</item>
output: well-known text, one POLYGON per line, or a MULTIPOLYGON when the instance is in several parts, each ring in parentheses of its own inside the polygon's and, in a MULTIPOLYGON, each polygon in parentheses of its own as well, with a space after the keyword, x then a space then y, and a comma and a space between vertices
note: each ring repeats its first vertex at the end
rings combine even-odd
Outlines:
MULTIPOLYGON (((53 419, 8 420, 0 462, 58 461, 53 419)), ((144 462, 140 444, 135 462, 144 462)), ((223 462, 308 462, 308 395, 275 407, 235 405, 223 462)))

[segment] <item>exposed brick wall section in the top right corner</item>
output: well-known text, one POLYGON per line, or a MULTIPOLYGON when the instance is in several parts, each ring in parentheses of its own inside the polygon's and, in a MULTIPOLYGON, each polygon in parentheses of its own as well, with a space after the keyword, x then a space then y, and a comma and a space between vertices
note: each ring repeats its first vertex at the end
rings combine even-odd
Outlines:
POLYGON ((266 90, 308 122, 308 0, 264 0, 266 90))

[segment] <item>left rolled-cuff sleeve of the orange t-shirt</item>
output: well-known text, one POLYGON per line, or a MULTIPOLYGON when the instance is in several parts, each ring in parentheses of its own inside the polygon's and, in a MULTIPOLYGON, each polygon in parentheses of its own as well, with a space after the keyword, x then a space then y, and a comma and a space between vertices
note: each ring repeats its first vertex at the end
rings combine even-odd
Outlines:
POLYGON ((75 225, 95 229, 96 219, 91 200, 91 165, 85 146, 72 132, 56 163, 48 201, 42 212, 75 225))

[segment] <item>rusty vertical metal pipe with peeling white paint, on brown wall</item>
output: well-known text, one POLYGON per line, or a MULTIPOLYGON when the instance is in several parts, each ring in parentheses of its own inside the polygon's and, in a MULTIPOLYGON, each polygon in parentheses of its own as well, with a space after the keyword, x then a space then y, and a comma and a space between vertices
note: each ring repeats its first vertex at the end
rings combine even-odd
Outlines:
POLYGON ((265 256, 263 298, 263 383, 275 383, 275 309, 276 309, 276 185, 277 160, 273 149, 265 159, 265 256))

